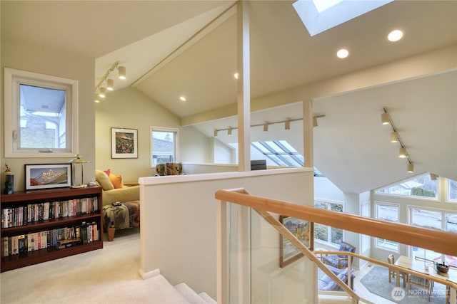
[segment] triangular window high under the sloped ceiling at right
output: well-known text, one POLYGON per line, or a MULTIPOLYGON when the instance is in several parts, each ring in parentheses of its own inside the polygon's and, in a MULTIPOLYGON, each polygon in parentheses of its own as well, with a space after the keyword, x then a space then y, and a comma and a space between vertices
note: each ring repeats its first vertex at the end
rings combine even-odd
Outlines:
POLYGON ((423 174, 414 179, 378 189, 376 194, 416 196, 436 200, 438 199, 438 180, 432 180, 430 174, 423 174))

